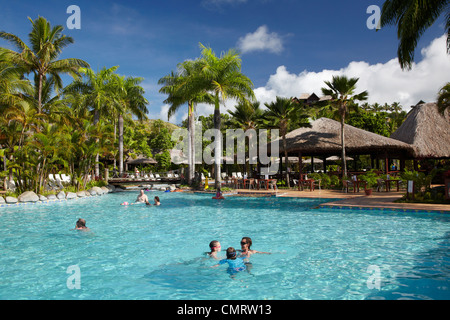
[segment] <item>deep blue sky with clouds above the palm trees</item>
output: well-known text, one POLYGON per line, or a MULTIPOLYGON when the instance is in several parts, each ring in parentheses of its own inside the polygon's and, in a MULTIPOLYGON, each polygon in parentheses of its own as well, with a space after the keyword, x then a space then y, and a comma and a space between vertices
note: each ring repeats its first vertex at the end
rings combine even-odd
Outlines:
MULTIPOLYGON (((444 22, 441 18, 424 34, 416 50, 417 67, 404 72, 394 63, 396 29, 375 32, 366 26, 368 6, 381 7, 383 2, 2 0, 0 30, 27 41, 27 17, 41 15, 53 25, 66 26, 70 16, 67 7, 78 5, 81 29, 65 29, 75 43, 64 50, 62 58, 84 59, 94 70, 118 65, 119 74, 143 77, 150 118, 167 120, 165 96, 158 93, 157 81, 175 70, 179 62, 199 57, 200 42, 217 54, 237 48, 243 72, 253 81, 262 102, 276 95, 319 94, 323 80, 345 73, 371 75, 367 79, 363 76, 358 86, 361 91, 369 91, 370 102, 399 101, 409 109, 409 104, 419 97, 433 99, 445 77, 448 81, 450 58, 434 54, 442 40, 433 45, 433 40, 443 39, 444 22), (427 50, 421 51, 423 48, 427 50), (424 73, 424 69, 430 71, 424 73), (395 80, 395 85, 388 85, 380 74, 395 80), (420 90, 411 87, 417 84, 417 78, 423 81, 420 90)), ((0 40, 0 46, 7 43, 0 40)), ((445 47, 442 51, 445 53, 445 47)), ((232 109, 233 102, 226 107, 232 109)), ((199 106, 198 114, 211 110, 199 106)), ((180 111, 171 121, 179 123, 184 116, 185 112, 180 111)))

